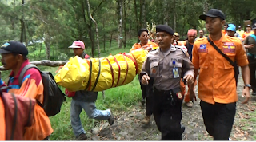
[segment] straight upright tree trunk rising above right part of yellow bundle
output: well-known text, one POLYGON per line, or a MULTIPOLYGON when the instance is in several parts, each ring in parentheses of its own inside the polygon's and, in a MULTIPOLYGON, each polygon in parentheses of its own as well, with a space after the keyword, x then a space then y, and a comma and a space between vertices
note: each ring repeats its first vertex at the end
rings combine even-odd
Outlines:
POLYGON ((122 48, 122 1, 117 0, 118 2, 118 48, 122 48))

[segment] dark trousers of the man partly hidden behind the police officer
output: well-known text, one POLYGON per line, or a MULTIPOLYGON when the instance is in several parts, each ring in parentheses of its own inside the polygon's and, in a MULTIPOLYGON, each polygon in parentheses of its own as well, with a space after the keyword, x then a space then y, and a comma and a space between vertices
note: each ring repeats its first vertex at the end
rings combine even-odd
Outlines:
POLYGON ((140 83, 141 89, 142 89, 142 98, 146 98, 146 116, 151 116, 153 111, 152 111, 152 93, 153 89, 151 85, 142 85, 140 83))

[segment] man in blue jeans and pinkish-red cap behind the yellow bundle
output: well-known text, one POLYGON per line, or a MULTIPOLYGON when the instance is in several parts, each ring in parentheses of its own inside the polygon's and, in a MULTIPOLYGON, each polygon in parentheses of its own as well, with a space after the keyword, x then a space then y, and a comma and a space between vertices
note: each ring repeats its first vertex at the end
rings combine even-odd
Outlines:
MULTIPOLYGON (((75 56, 85 59, 90 58, 84 52, 85 45, 82 41, 74 41, 69 48, 73 49, 75 56)), ((98 92, 91 92, 85 90, 69 92, 67 89, 65 92, 68 97, 72 97, 70 107, 70 119, 74 135, 76 136, 76 140, 87 139, 86 131, 82 128, 82 123, 80 120, 80 113, 82 112, 82 109, 84 109, 86 115, 89 118, 96 120, 108 120, 110 125, 114 123, 114 117, 112 116, 110 109, 98 110, 96 108, 95 101, 97 100, 98 92)))

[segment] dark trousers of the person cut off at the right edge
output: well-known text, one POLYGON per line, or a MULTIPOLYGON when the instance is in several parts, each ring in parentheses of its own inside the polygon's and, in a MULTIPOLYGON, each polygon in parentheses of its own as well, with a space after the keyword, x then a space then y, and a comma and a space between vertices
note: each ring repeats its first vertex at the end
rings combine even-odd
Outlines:
POLYGON ((256 78, 255 78, 255 70, 256 70, 256 59, 254 57, 248 57, 249 68, 250 68, 250 85, 253 92, 256 92, 256 78))

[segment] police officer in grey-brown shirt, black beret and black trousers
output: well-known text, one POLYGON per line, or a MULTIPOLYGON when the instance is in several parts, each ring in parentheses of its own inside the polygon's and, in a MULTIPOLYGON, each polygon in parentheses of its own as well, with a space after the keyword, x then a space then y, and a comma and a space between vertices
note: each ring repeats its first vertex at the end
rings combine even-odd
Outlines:
POLYGON ((172 45, 174 30, 156 26, 159 49, 151 51, 140 73, 143 85, 154 80, 153 115, 162 140, 182 140, 182 73, 188 84, 194 81, 194 66, 182 49, 172 45), (183 70, 183 72, 182 72, 183 70))

